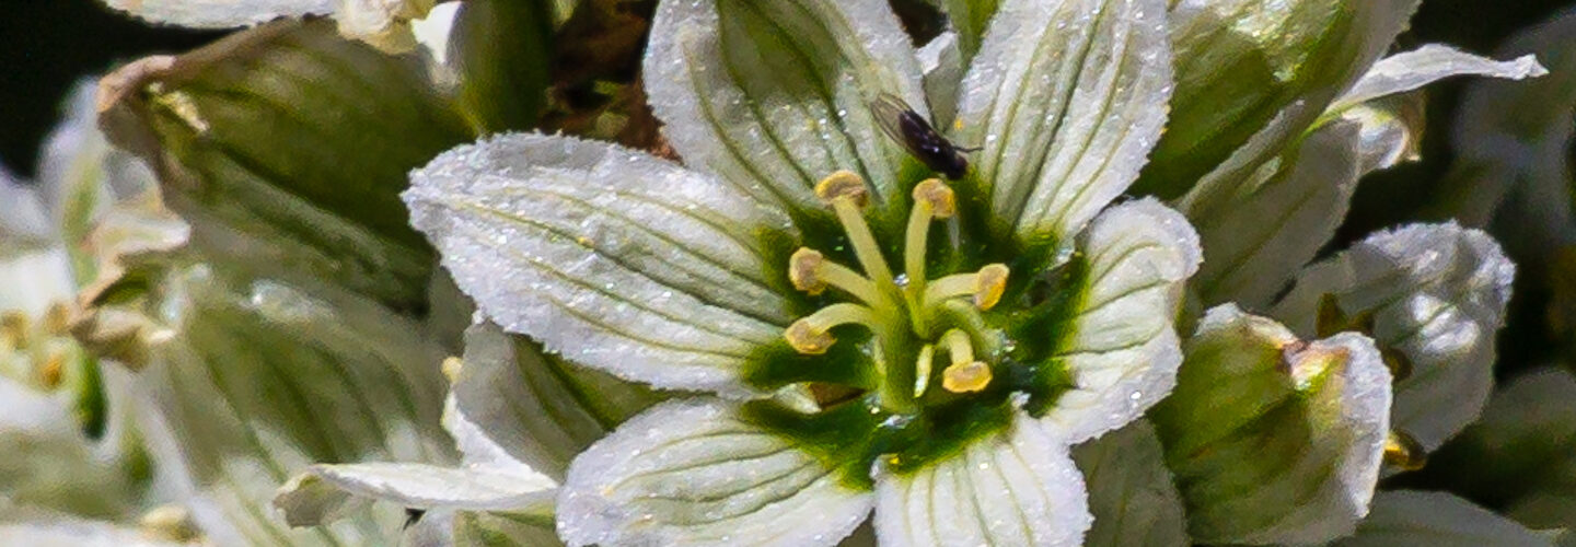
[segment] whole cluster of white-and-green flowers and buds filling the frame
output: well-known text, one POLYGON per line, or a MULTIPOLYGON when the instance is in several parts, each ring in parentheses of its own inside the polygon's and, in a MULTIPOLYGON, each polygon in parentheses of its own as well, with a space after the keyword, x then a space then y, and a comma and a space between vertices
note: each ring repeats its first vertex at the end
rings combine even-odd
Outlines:
MULTIPOLYGON (((886 0, 662 0, 637 80, 548 57, 616 49, 585 33, 630 16, 597 0, 107 3, 337 24, 274 20, 104 77, 104 134, 61 145, 102 173, 44 181, 68 192, 63 229, 36 205, 0 219, 0 241, 28 238, 0 276, 77 292, 41 307, 0 287, 0 389, 54 416, 0 421, 0 446, 71 434, 52 441, 72 460, 20 468, 121 495, 0 487, 0 539, 126 538, 137 519, 213 544, 1549 544, 1535 528, 1576 527, 1549 517, 1570 486, 1507 515, 1395 489, 1436 452, 1559 452, 1571 416, 1526 415, 1576 389, 1548 370, 1494 396, 1516 266, 1486 232, 1407 224, 1327 251, 1359 181, 1417 159, 1422 87, 1552 85, 1518 82, 1548 76, 1532 55, 1387 57, 1417 0, 949 0, 909 6, 942 22, 924 36, 886 0), (608 106, 577 110, 585 88, 608 106), (112 210, 71 197, 151 184, 112 210), (79 270, 25 270, 39 260, 79 270)), ((1533 139, 1492 120, 1458 140, 1533 139)), ((1521 148, 1467 150, 1535 170, 1521 148)), ((1510 177, 1470 173, 1451 184, 1510 177)))

